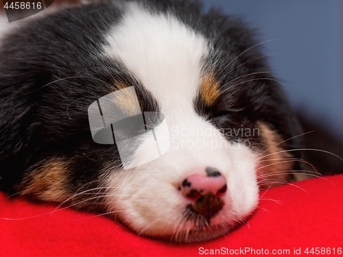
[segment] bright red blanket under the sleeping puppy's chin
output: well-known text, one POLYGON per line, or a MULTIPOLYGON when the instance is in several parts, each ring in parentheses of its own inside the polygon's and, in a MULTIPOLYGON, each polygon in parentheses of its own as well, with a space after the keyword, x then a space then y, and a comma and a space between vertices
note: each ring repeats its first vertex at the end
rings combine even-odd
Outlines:
POLYGON ((343 256, 343 175, 261 192, 259 208, 246 225, 191 245, 143 238, 107 217, 68 208, 54 210, 56 206, 0 194, 0 256, 188 257, 281 251, 343 256))

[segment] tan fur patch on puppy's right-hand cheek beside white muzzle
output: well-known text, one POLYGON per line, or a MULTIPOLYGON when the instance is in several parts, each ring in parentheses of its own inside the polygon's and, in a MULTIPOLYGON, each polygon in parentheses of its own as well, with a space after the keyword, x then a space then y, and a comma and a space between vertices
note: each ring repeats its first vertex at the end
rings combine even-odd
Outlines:
POLYGON ((266 149, 257 165, 257 180, 260 188, 266 189, 291 182, 292 175, 289 173, 292 173, 294 162, 289 161, 289 158, 293 156, 288 151, 284 151, 282 144, 278 145, 283 138, 265 123, 259 123, 259 130, 266 149))

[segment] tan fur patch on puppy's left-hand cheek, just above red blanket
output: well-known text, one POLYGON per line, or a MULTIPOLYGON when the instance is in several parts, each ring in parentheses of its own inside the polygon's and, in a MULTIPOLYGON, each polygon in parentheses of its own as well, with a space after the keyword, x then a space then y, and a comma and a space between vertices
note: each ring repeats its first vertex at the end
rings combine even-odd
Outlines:
POLYGON ((71 195, 67 181, 67 163, 52 159, 29 175, 22 195, 34 195, 43 201, 64 201, 71 195))

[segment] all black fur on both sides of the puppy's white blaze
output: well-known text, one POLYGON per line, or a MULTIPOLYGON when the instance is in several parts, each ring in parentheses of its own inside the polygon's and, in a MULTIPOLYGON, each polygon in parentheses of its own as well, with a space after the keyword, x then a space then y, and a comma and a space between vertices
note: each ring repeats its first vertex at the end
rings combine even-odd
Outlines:
MULTIPOLYGON (((264 121, 285 139, 300 134, 279 84, 264 73, 270 69, 259 58, 257 41, 244 23, 217 10, 202 14, 197 2, 143 3, 153 12, 174 13, 213 44, 207 66, 217 67, 215 75, 222 89, 228 89, 213 106, 195 99, 198 114, 224 129, 256 127, 257 121, 264 121), (257 80, 230 88, 236 77, 257 72, 263 73, 248 75, 243 81, 257 80)), ((111 85, 117 80, 134 85, 142 111, 158 112, 154 97, 123 65, 99 57, 106 44, 104 33, 121 19, 121 13, 120 5, 93 3, 31 21, 5 38, 0 49, 1 191, 20 190, 25 177, 51 158, 68 163, 71 193, 99 186, 105 167, 121 167, 116 145, 93 142, 88 106, 113 92, 111 85)), ((245 139, 261 147, 259 138, 245 139)), ((294 138, 286 148, 297 145, 294 138)))

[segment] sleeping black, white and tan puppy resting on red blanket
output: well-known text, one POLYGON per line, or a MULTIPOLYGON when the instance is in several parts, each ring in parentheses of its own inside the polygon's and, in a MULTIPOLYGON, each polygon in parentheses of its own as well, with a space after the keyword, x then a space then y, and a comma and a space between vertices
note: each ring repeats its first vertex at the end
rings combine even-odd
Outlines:
POLYGON ((243 23, 178 0, 43 13, 1 17, 1 191, 191 242, 292 180, 300 129, 243 23))

